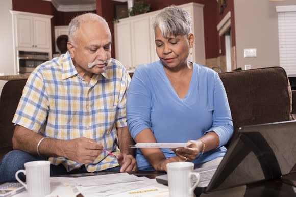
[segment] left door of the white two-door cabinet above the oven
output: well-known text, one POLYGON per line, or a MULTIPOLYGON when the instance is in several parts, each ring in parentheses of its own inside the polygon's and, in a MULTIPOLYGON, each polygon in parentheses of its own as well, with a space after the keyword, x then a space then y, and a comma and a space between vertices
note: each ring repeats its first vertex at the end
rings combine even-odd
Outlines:
POLYGON ((17 15, 17 47, 34 47, 32 17, 17 15))

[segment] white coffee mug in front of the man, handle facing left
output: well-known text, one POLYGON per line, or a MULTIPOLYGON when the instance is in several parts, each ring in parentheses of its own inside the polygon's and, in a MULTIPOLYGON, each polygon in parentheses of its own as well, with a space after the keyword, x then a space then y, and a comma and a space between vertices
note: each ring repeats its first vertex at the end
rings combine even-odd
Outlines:
POLYGON ((50 194, 50 161, 31 161, 24 163, 24 170, 18 170, 15 178, 27 190, 31 197, 45 196, 50 194), (18 178, 18 174, 26 175, 26 183, 18 178))

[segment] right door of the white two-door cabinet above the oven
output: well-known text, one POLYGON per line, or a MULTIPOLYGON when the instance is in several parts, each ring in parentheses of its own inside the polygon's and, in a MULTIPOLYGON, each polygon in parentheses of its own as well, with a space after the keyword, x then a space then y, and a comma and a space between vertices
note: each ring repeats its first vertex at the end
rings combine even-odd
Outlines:
POLYGON ((47 18, 33 17, 34 45, 36 48, 50 48, 50 20, 47 18))

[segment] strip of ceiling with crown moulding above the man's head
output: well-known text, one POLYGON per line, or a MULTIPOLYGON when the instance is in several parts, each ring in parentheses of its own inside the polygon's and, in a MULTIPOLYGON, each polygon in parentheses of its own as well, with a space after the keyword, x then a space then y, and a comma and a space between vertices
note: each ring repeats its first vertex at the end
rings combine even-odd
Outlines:
MULTIPOLYGON (((50 1, 58 11, 79 12, 96 10, 96 0, 44 0, 50 1)), ((111 0, 109 0, 111 1, 111 0)), ((126 2, 127 0, 116 0, 126 2)))

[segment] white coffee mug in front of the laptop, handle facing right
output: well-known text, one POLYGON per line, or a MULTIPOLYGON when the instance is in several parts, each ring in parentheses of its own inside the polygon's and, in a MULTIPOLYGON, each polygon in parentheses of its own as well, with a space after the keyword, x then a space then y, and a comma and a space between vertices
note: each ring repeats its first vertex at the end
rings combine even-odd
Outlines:
POLYGON ((166 167, 169 196, 193 196, 193 191, 200 181, 200 174, 192 172, 194 163, 174 162, 166 164, 166 167), (196 182, 193 182, 191 179, 192 176, 196 177, 196 182))

